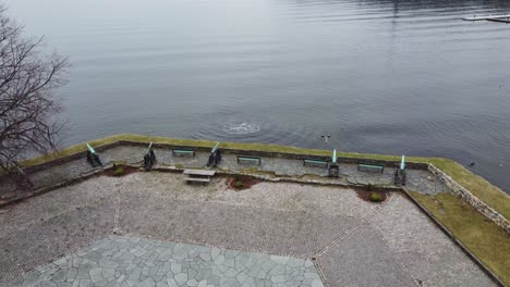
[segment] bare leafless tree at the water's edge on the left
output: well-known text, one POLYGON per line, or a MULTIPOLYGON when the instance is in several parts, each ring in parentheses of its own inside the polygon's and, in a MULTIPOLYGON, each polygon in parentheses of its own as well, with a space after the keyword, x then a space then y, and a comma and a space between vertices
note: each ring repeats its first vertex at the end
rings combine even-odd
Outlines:
POLYGON ((19 170, 19 161, 56 148, 62 124, 53 91, 64 84, 68 59, 46 54, 44 38, 24 37, 23 26, 0 5, 0 169, 19 170))

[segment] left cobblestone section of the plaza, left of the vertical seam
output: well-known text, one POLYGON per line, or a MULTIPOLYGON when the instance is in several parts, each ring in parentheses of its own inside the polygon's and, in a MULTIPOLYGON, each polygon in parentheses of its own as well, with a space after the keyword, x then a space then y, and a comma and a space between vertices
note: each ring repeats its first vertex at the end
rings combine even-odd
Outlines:
POLYGON ((113 230, 113 190, 88 180, 0 209, 0 282, 113 230))

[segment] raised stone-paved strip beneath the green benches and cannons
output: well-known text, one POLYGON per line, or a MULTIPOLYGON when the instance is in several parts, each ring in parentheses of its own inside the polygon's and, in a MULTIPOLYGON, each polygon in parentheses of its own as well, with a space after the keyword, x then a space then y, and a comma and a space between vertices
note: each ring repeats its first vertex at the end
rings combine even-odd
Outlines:
MULTIPOLYGON (((122 146, 100 152, 104 164, 111 162, 123 162, 129 164, 139 164, 146 148, 135 146, 122 146)), ((155 149, 159 166, 180 167, 206 167, 208 159, 207 152, 196 152, 195 157, 180 155, 172 157, 170 149, 155 149)), ((282 158, 263 158, 262 164, 238 163, 236 155, 223 154, 219 169, 232 172, 262 171, 274 173, 275 176, 303 176, 317 175, 326 176, 327 170, 317 166, 304 166, 300 160, 282 158)), ((31 174, 31 180, 36 188, 51 186, 64 179, 73 178, 85 173, 98 170, 93 169, 84 159, 74 160, 58 166, 47 169, 41 172, 31 174)), ((372 184, 392 185, 394 169, 386 167, 384 173, 359 172, 356 164, 340 164, 340 178, 324 178, 325 182, 341 184, 372 184)), ((449 191, 436 176, 427 171, 408 170, 408 188, 423 194, 435 195, 449 191)), ((0 186, 0 200, 15 196, 14 185, 2 183, 0 186)))

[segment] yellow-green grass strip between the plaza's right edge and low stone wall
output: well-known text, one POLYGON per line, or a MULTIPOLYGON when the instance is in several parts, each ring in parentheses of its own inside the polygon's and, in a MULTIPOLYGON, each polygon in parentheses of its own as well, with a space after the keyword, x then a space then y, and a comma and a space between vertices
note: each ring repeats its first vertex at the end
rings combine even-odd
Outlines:
POLYGON ((435 197, 416 191, 410 194, 510 286, 510 236, 502 228, 452 194, 441 192, 435 197))

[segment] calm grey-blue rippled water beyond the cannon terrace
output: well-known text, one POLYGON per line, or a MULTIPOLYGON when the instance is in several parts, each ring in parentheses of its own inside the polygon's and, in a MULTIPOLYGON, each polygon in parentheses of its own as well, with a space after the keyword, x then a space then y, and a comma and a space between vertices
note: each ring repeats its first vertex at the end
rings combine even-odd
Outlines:
POLYGON ((446 157, 510 191, 506 0, 9 0, 74 66, 66 145, 118 133, 446 157))

